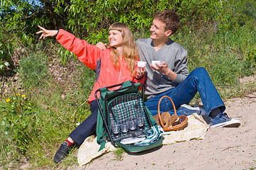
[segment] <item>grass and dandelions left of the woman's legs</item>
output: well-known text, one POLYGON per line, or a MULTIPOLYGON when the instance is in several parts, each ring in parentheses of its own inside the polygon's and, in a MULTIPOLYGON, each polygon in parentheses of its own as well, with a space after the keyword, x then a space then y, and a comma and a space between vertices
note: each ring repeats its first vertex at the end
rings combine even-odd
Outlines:
POLYGON ((37 168, 55 166, 52 157, 57 147, 90 114, 88 89, 69 94, 64 93, 67 84, 65 89, 48 81, 49 86, 31 89, 26 96, 9 94, 0 101, 1 165, 26 157, 37 168))

